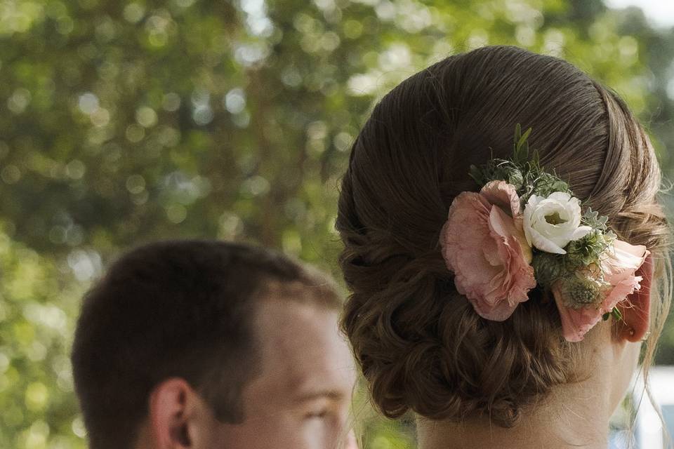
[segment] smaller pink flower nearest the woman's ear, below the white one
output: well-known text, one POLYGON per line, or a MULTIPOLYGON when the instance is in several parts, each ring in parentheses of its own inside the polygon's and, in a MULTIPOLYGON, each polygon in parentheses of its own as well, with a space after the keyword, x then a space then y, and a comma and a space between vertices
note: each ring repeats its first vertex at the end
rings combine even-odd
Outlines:
POLYGON ((567 341, 583 340, 585 334, 602 319, 602 315, 612 311, 616 304, 641 288, 642 277, 635 276, 635 272, 649 254, 643 245, 635 246, 615 240, 613 248, 607 250, 606 258, 600 264, 608 288, 603 290, 604 299, 597 305, 579 309, 567 307, 564 304, 561 283, 553 285, 553 295, 562 318, 562 335, 567 341))

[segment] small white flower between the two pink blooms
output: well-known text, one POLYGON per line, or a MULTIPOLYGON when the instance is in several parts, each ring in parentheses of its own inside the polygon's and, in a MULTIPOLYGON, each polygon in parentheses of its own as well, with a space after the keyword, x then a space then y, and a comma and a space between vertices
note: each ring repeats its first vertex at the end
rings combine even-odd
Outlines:
POLYGON ((581 201, 564 192, 548 198, 531 195, 524 206, 524 236, 546 253, 566 254, 569 241, 582 239, 592 228, 580 226, 581 201))

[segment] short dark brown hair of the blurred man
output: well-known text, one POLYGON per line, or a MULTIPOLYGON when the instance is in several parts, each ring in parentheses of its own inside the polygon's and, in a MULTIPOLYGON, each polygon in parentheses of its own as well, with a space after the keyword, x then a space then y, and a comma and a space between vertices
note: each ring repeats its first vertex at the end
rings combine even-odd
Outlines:
POLYGON ((218 420, 242 422, 242 389, 260 363, 257 299, 275 291, 341 306, 328 276, 263 248, 166 241, 121 257, 84 297, 72 349, 91 448, 131 447, 152 389, 169 377, 190 383, 218 420))

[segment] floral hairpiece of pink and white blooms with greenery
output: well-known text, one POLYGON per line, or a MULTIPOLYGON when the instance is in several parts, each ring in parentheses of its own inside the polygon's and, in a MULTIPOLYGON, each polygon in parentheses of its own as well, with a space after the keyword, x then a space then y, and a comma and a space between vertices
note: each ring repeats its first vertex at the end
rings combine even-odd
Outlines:
POLYGON ((480 192, 461 192, 440 233, 458 293, 484 319, 504 321, 529 290, 553 293, 562 334, 579 342, 640 289, 635 273, 649 251, 616 239, 607 217, 587 208, 567 182, 529 158, 529 128, 515 128, 513 159, 471 166, 480 192))

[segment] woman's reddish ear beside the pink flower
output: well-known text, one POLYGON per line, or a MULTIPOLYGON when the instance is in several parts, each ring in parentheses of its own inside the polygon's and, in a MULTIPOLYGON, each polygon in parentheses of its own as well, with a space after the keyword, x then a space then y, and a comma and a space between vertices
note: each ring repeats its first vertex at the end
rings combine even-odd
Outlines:
POLYGON ((617 335, 620 340, 628 342, 641 341, 649 329, 651 313, 651 285, 653 282, 653 256, 649 254, 635 276, 641 276, 641 288, 618 304, 623 315, 617 324, 617 335))

